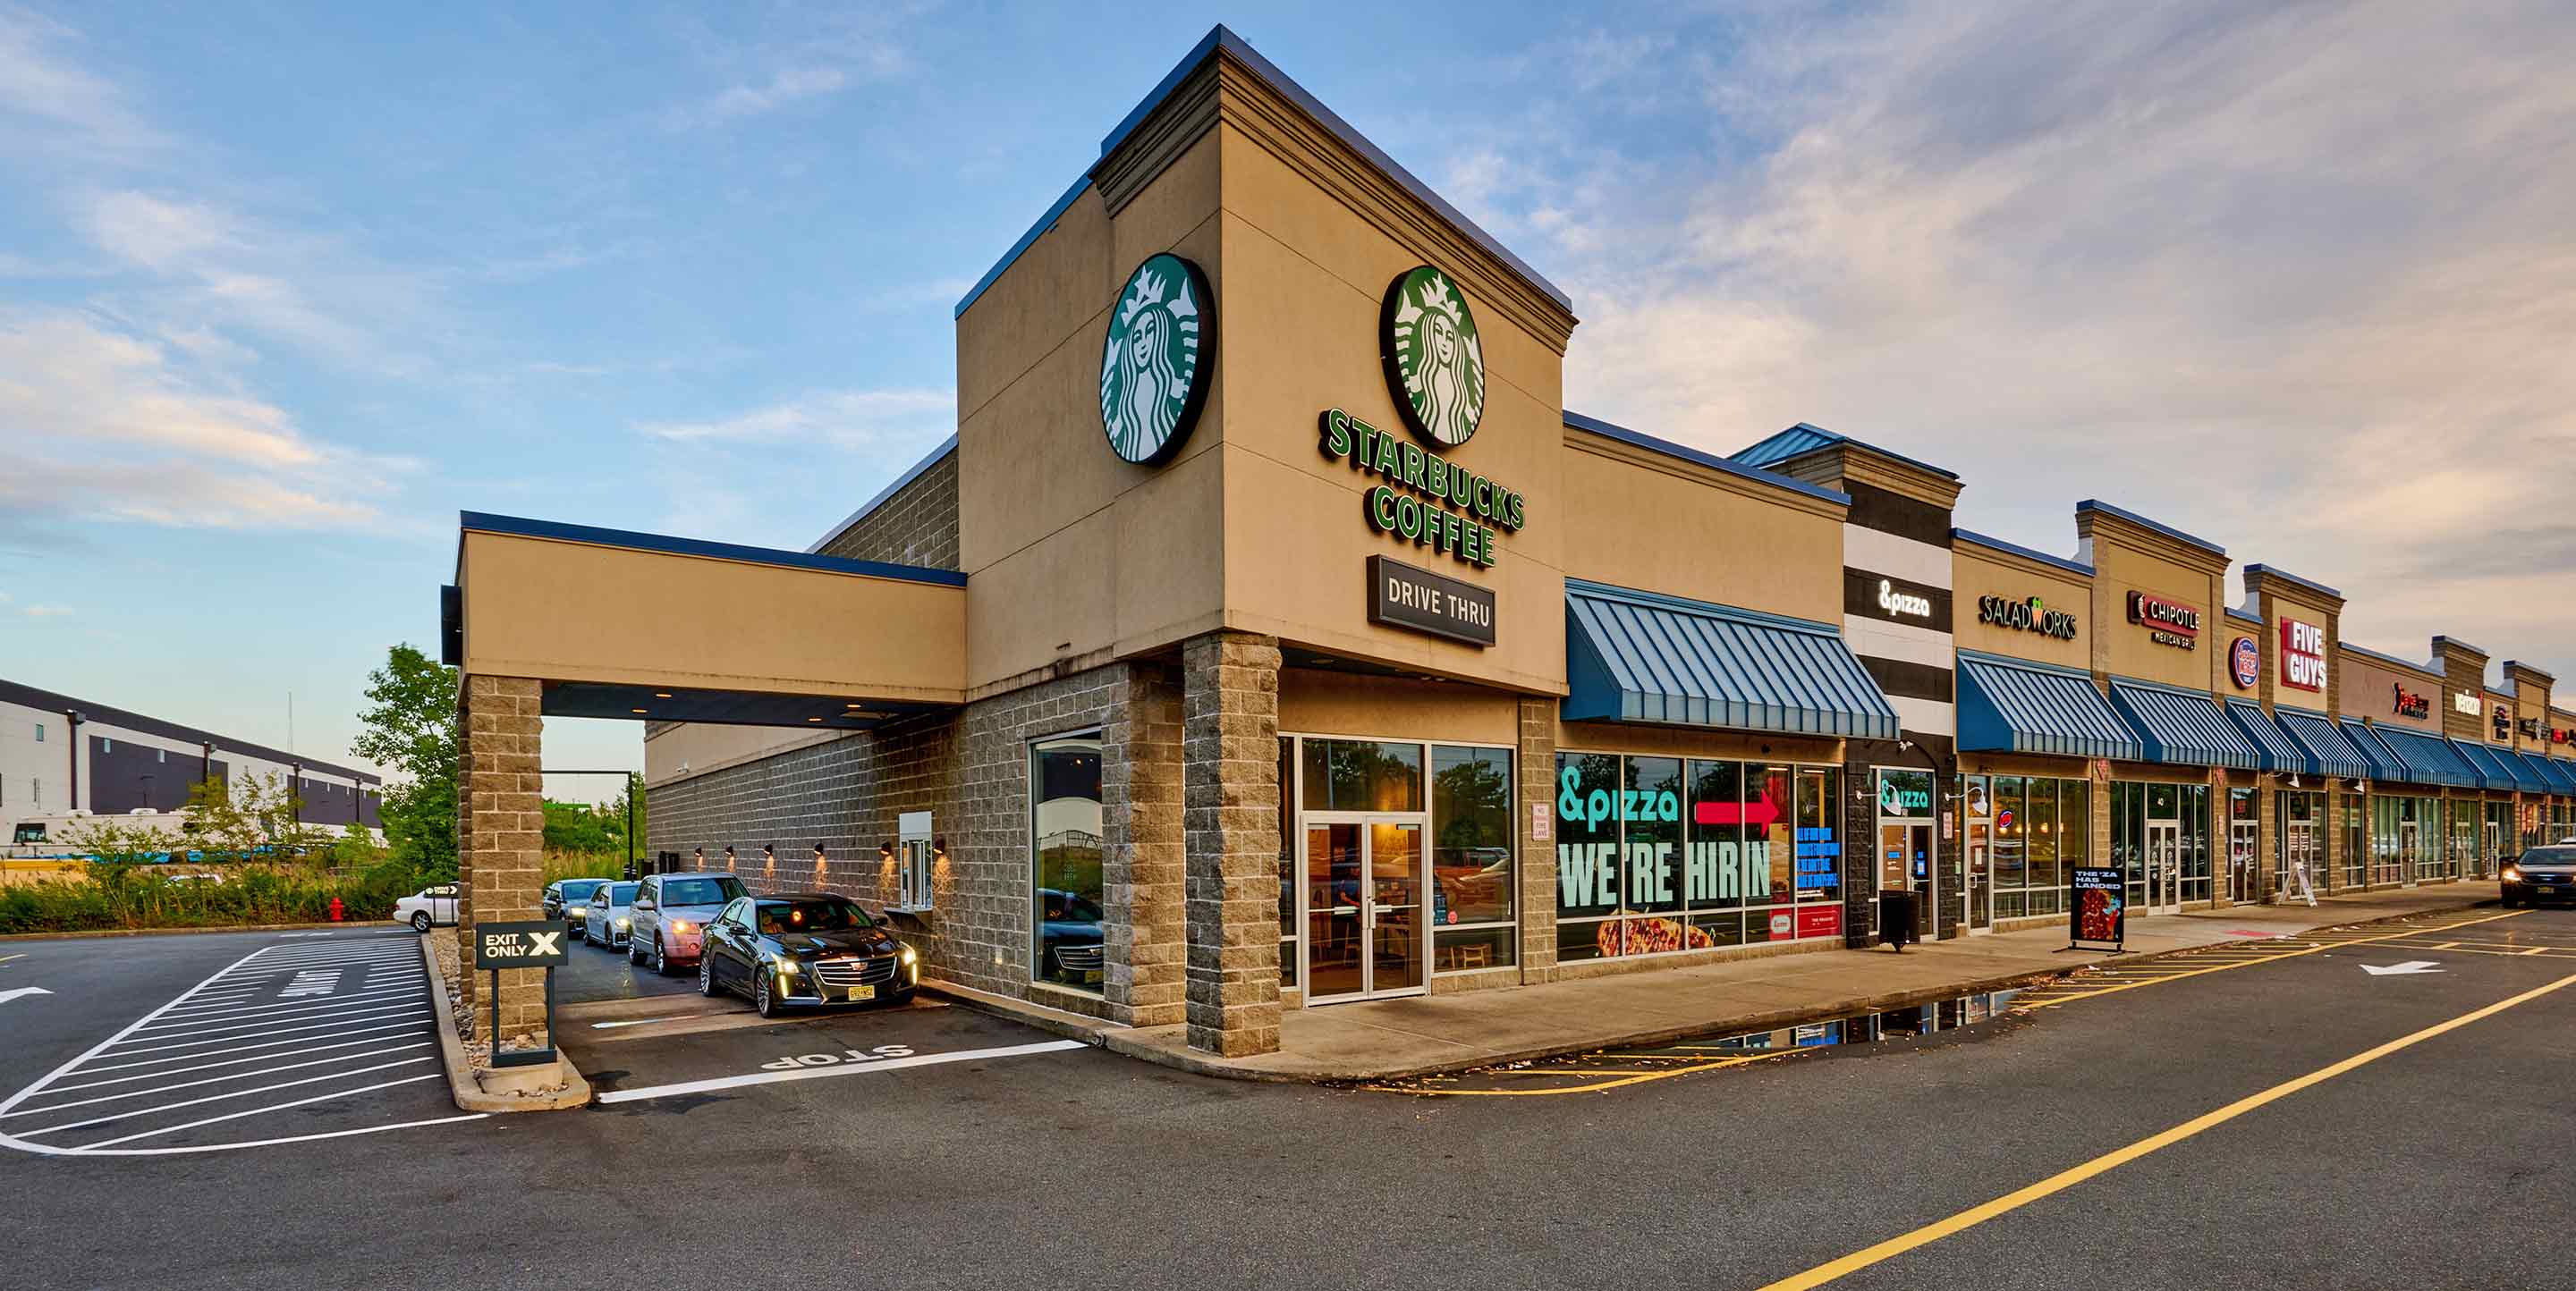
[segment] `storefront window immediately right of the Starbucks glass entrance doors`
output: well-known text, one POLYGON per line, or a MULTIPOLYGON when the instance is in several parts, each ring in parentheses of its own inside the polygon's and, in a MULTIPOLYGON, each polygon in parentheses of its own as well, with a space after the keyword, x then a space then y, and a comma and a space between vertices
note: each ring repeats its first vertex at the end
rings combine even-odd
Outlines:
POLYGON ((1432 745, 1432 969, 1512 964, 1512 752, 1432 745))

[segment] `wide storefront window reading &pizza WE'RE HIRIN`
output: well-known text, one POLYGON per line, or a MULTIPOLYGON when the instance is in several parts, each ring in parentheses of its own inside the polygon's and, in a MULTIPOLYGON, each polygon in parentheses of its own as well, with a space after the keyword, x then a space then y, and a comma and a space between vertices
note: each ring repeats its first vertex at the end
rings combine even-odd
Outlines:
POLYGON ((1556 758, 1558 959, 1842 935, 1832 768, 1556 758))

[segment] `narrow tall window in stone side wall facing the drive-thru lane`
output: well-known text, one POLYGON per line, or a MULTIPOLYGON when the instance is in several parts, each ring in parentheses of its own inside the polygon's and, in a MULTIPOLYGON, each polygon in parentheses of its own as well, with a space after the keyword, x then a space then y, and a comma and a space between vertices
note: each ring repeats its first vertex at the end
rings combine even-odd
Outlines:
POLYGON ((1100 737, 1041 740, 1030 783, 1030 977, 1100 990, 1100 737))

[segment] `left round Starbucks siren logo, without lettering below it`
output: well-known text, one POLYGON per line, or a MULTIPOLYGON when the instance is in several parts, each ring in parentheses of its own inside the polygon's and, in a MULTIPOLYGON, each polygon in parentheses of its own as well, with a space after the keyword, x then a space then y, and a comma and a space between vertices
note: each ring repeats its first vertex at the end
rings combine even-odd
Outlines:
POLYGON ((1208 276, 1180 255, 1151 255, 1128 273, 1100 345, 1100 425, 1110 448, 1154 464, 1190 438, 1208 402, 1208 276))

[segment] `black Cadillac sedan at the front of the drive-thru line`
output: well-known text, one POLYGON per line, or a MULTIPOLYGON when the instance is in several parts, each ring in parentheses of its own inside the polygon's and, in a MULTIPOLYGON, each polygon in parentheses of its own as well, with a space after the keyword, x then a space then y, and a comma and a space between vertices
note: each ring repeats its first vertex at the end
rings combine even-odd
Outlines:
POLYGON ((762 1018, 791 1005, 904 1002, 920 984, 920 953, 827 892, 739 897, 706 925, 698 956, 698 995, 737 990, 762 1018))

